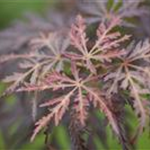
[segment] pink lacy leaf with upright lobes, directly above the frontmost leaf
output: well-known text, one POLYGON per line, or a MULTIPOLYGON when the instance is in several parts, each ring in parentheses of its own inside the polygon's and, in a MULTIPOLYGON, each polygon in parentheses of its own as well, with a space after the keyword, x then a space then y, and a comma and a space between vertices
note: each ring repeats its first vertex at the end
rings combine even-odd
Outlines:
POLYGON ((67 56, 71 59, 85 62, 85 67, 92 73, 96 73, 96 67, 93 61, 110 62, 113 58, 120 57, 125 52, 118 50, 121 42, 129 39, 129 35, 121 36, 119 32, 111 32, 114 27, 120 24, 119 18, 113 18, 107 25, 101 23, 97 29, 97 40, 95 44, 89 48, 85 29, 85 21, 79 15, 76 24, 72 25, 70 31, 71 44, 76 48, 74 52, 70 52, 67 56))

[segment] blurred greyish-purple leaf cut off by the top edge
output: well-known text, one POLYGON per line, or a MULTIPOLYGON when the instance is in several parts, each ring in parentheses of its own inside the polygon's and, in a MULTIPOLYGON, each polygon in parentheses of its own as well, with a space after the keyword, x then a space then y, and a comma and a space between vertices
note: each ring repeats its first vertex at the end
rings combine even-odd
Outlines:
POLYGON ((141 0, 100 0, 100 1, 82 1, 79 3, 81 12, 88 15, 89 23, 105 22, 113 17, 120 17, 123 26, 133 26, 125 18, 139 17, 141 14, 148 13, 145 7, 140 6, 141 0))

